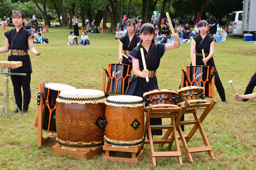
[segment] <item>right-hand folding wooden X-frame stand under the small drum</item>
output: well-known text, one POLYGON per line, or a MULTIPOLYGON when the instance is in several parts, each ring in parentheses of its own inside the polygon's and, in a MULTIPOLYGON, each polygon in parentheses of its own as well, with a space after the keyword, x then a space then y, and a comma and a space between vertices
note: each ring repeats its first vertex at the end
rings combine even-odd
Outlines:
MULTIPOLYGON (((206 152, 207 151, 210 158, 215 159, 214 155, 213 155, 212 146, 210 146, 210 143, 208 141, 208 138, 205 134, 205 131, 204 131, 204 128, 202 125, 202 122, 205 120, 208 113, 212 110, 212 108, 214 107, 215 104, 216 104, 216 99, 212 99, 210 101, 210 103, 200 103, 200 104, 190 104, 189 101, 186 101, 184 104, 184 107, 186 109, 184 114, 192 113, 195 120, 180 121, 183 114, 177 114, 177 117, 175 119, 176 120, 176 128, 180 135, 179 139, 181 139, 181 142, 183 144, 183 147, 184 147, 184 150, 185 150, 185 153, 187 155, 189 162, 193 162, 193 159, 191 156, 191 153, 193 153, 193 152, 206 152), (205 107, 205 111, 199 117, 199 115, 197 114, 197 110, 195 108, 201 108, 201 107, 205 107), (191 108, 193 108, 193 109, 191 109, 191 108), (183 131, 181 130, 180 125, 191 125, 191 124, 195 124, 195 125, 193 126, 191 131, 188 133, 188 135, 184 135, 183 131), (199 129, 199 131, 200 131, 200 134, 203 138, 205 146, 189 148, 187 143, 190 141, 192 136, 196 133, 197 129, 199 129)), ((169 137, 171 132, 172 132, 172 130, 168 130, 167 133, 162 138, 162 139, 167 139, 167 138, 170 139, 170 145, 168 146, 168 148, 172 147, 172 144, 175 140, 174 133, 172 133, 171 137, 169 137)))

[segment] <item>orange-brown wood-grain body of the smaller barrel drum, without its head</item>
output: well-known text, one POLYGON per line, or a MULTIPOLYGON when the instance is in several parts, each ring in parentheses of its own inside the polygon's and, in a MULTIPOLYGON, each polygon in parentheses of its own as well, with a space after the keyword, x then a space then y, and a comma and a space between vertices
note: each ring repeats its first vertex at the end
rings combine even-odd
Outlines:
POLYGON ((144 131, 144 108, 143 107, 111 107, 106 105, 105 135, 113 141, 129 142, 142 139, 144 131), (135 118, 141 126, 134 130, 131 124, 135 118))

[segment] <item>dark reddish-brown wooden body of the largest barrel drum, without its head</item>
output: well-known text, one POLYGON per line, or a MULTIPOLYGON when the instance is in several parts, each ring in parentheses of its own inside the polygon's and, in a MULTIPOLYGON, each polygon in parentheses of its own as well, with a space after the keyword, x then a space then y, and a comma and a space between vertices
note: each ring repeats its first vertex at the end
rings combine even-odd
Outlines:
POLYGON ((57 136, 62 141, 100 142, 104 139, 104 128, 94 122, 98 116, 105 117, 105 104, 58 103, 56 109, 57 136))

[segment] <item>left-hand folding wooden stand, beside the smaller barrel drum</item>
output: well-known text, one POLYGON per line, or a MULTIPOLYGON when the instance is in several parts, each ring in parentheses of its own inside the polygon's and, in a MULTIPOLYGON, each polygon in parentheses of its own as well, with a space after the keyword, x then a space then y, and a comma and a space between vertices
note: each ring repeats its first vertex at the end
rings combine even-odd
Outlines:
MULTIPOLYGON (((146 134, 148 132, 148 140, 144 141, 144 144, 150 145, 150 151, 151 151, 151 158, 152 163, 154 166, 156 166, 156 157, 177 157, 179 160, 179 164, 183 165, 182 159, 181 159, 181 152, 180 152, 180 146, 179 141, 177 138, 177 129, 176 126, 174 126, 175 123, 175 117, 176 114, 184 114, 185 107, 184 104, 181 104, 180 107, 177 108, 152 108, 152 104, 150 104, 147 112, 147 119, 146 119, 146 130, 144 133, 144 138, 146 137, 146 134), (150 125, 150 118, 171 118, 171 124, 170 125, 150 125), (160 140, 153 140, 151 129, 168 129, 173 131, 172 134, 174 134, 174 141, 176 145, 176 151, 168 151, 168 152, 155 152, 154 151, 154 143, 170 143, 170 138, 168 139, 160 139, 160 140)), ((170 135, 170 134, 169 134, 170 135)), ((169 136, 168 135, 168 136, 169 136)))

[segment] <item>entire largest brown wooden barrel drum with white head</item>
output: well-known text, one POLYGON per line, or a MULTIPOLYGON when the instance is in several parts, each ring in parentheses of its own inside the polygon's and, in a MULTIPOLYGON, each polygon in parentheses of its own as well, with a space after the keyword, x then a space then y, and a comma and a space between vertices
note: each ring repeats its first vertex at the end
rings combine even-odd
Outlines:
POLYGON ((56 99, 57 141, 71 150, 98 148, 104 144, 104 92, 76 89, 61 91, 56 99))

